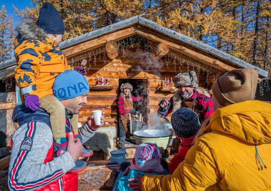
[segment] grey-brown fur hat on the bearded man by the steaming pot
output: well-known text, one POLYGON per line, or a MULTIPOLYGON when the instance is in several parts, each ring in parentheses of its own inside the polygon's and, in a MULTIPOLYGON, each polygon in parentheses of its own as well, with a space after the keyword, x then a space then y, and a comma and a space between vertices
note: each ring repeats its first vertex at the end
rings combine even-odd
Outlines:
POLYGON ((197 88, 199 86, 199 81, 196 72, 190 71, 179 73, 178 75, 175 76, 174 85, 176 88, 179 88, 180 85, 192 86, 197 88))

